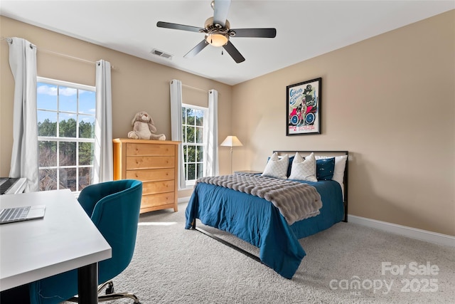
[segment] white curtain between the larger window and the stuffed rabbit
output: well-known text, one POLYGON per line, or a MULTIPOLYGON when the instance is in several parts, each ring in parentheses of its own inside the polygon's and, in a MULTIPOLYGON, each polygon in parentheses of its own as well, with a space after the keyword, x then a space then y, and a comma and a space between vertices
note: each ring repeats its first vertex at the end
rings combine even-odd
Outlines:
POLYGON ((112 181, 112 93, 111 64, 96 63, 97 109, 95 118, 95 172, 93 183, 112 181))

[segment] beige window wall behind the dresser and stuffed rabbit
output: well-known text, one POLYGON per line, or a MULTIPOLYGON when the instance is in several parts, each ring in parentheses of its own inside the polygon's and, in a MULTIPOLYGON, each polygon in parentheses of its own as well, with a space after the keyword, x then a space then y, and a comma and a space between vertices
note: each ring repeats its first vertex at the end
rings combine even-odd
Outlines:
MULTIPOLYGON (((198 98, 208 100, 208 90, 218 90, 218 110, 220 114, 220 141, 231 131, 231 91, 230 85, 202 78, 190 73, 168 68, 165 65, 145 61, 125 53, 102 48, 92 43, 61 35, 43 28, 0 16, 1 37, 26 38, 38 46, 38 75, 66 80, 73 83, 95 85, 95 64, 85 63, 47 51, 63 53, 68 56, 83 58, 95 62, 99 59, 109 61, 116 68, 112 70, 112 134, 115 137, 127 137, 132 130, 132 117, 136 112, 145 110, 153 117, 159 133, 171 139, 171 114, 169 105, 169 81, 181 80, 183 100, 203 105, 198 98)), ((9 68, 9 50, 6 41, 0 43, 0 174, 7 176, 11 162, 13 142, 14 78, 9 68)), ((229 152, 220 150, 220 171, 229 171, 229 152)), ((188 196, 191 192, 182 192, 179 196, 188 196)))

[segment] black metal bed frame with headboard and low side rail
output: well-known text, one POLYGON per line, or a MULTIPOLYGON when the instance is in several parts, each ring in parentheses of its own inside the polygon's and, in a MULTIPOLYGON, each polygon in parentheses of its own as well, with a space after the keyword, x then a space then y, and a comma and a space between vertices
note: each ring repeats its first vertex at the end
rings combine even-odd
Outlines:
MULTIPOLYGON (((293 154, 295 154, 296 152, 299 152, 299 153, 302 153, 302 154, 310 154, 311 152, 314 152, 314 154, 316 154, 316 155, 317 154, 320 154, 320 155, 321 154, 329 154, 328 156, 331 156, 331 154, 333 154, 334 157, 335 156, 347 155, 348 158, 346 159, 346 167, 344 168, 344 177, 343 177, 343 184, 344 184, 344 189, 343 189, 343 192, 344 192, 344 201, 343 201, 344 219, 343 219, 343 221, 346 222, 346 223, 348 222, 348 167, 349 167, 349 165, 348 165, 348 163, 349 163, 349 152, 348 151, 278 151, 277 150, 277 151, 274 151, 274 152, 277 152, 277 154, 283 154, 283 153, 293 153, 293 154)), ((194 219, 191 228, 194 229, 194 230, 199 231, 202 234, 205 234, 206 236, 210 236, 210 238, 215 239, 216 241, 219 241, 220 243, 223 243, 226 246, 229 246, 230 248, 233 248, 233 249, 239 251, 240 253, 245 254, 245 256, 249 256, 250 258, 252 258, 255 261, 258 261, 259 263, 262 263, 262 261, 259 258, 259 256, 255 256, 254 254, 243 250, 242 248, 234 245, 233 243, 225 241, 225 240, 219 238, 218 236, 215 236, 214 234, 211 234, 210 232, 205 231, 204 229, 200 229, 199 227, 196 227, 196 219, 194 219)))

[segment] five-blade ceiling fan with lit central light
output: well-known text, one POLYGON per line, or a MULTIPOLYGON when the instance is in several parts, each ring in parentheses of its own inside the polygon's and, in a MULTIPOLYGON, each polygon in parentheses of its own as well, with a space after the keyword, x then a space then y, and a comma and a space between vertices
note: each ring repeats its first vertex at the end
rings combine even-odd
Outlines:
POLYGON ((196 56, 200 51, 211 44, 212 46, 223 46, 236 63, 245 61, 242 54, 230 42, 231 37, 256 37, 274 38, 277 36, 275 28, 230 28, 230 23, 226 19, 228 16, 230 0, 214 0, 210 4, 213 8, 213 17, 205 21, 204 28, 196 26, 185 26, 183 24, 168 23, 159 21, 156 26, 159 28, 172 28, 181 31, 193 31, 205 33, 205 38, 200 41, 191 51, 186 53, 184 58, 196 56))

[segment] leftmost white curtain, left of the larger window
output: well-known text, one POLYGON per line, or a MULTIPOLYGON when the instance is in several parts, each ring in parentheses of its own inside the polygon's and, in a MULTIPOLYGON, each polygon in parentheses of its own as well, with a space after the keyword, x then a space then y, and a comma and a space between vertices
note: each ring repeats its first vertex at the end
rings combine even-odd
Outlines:
POLYGON ((39 190, 36 113, 36 46, 11 38, 9 66, 14 76, 13 150, 9 177, 26 177, 25 192, 39 190))

